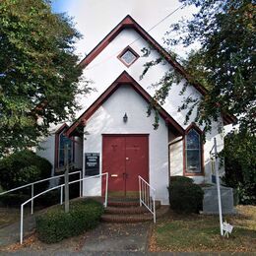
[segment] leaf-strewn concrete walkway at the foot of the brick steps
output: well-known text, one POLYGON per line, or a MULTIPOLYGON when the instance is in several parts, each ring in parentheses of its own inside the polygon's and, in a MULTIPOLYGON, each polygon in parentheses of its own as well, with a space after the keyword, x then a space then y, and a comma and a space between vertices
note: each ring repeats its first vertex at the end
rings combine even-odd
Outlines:
MULTIPOLYGON (((34 230, 34 216, 24 222, 25 237, 34 230)), ((19 246, 20 223, 11 224, 0 229, 0 255, 131 255, 148 251, 148 237, 152 223, 143 224, 99 224, 96 229, 90 230, 78 237, 65 239, 55 244, 45 244, 35 239, 32 244, 19 246), (18 244, 18 249, 8 252, 6 248, 18 244), (111 253, 111 254, 108 254, 111 253)))

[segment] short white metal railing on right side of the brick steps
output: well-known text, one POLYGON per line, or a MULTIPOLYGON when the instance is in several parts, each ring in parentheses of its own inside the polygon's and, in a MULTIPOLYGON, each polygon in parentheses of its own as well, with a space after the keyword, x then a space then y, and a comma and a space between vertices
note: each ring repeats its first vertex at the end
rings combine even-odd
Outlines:
POLYGON ((144 205, 154 217, 156 224, 156 189, 153 188, 144 178, 139 177, 140 206, 144 205))

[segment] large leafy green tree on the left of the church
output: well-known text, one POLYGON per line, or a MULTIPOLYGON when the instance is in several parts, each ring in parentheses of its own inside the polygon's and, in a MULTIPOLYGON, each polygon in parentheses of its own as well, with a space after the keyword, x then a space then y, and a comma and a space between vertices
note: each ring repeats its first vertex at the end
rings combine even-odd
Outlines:
POLYGON ((0 157, 32 147, 50 123, 74 115, 81 77, 74 43, 81 37, 69 17, 44 0, 0 4, 0 157))

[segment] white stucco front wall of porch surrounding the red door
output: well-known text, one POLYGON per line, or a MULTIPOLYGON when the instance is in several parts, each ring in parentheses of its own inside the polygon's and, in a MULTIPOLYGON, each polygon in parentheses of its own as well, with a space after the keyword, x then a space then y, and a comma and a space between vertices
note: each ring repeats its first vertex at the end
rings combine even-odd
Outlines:
MULTIPOLYGON (((100 173, 102 158, 101 134, 150 134, 150 183, 157 189, 157 199, 168 204, 168 131, 160 118, 160 128, 154 130, 154 116, 147 117, 148 103, 130 86, 121 86, 110 96, 87 122, 85 131, 84 153, 100 154, 100 173), (127 123, 123 122, 124 113, 128 115, 127 123)), ((85 171, 85 170, 84 170, 85 171)), ((100 195, 100 179, 84 184, 84 195, 100 195)))

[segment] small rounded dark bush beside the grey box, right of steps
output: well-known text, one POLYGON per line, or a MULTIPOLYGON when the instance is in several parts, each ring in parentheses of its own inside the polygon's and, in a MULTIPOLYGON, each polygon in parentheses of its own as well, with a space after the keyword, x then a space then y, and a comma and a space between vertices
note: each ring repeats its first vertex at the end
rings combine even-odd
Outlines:
MULTIPOLYGON (((173 177, 172 177, 173 178, 173 177)), ((203 206, 204 191, 190 178, 177 177, 168 187, 170 208, 177 213, 199 213, 203 206)))

